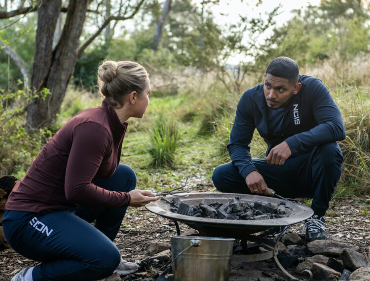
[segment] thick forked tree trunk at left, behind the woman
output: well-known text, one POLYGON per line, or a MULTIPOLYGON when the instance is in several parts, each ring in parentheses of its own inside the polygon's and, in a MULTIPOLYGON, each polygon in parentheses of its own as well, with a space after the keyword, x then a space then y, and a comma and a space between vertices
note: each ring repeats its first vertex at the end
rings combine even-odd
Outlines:
POLYGON ((70 1, 63 33, 54 51, 51 48, 61 0, 43 0, 38 8, 32 87, 37 92, 47 88, 51 94, 28 106, 27 132, 49 125, 60 111, 77 59, 79 37, 89 3, 90 0, 70 1))

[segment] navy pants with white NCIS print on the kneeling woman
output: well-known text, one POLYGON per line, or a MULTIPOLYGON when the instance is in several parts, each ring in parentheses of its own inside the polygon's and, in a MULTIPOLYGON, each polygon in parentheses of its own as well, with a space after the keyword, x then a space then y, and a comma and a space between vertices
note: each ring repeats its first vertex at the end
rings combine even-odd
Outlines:
MULTIPOLYGON (((135 189, 136 176, 119 164, 109 178, 96 185, 111 191, 135 189)), ((126 208, 91 208, 33 213, 5 211, 2 221, 9 245, 21 255, 41 263, 35 266, 34 281, 84 281, 108 277, 121 255, 112 243, 126 208), (95 227, 91 222, 95 220, 95 227)))

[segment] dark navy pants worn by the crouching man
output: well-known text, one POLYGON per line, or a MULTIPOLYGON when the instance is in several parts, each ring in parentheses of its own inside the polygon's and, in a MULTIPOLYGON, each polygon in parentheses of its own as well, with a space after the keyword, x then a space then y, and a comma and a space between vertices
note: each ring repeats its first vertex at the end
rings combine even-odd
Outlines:
MULTIPOLYGON (((252 158, 267 186, 288 198, 313 198, 311 208, 325 215, 342 166, 342 151, 336 142, 315 146, 310 153, 288 158, 283 165, 269 165, 265 158, 252 158)), ((215 169, 213 183, 221 192, 251 194, 245 178, 232 162, 215 169)))

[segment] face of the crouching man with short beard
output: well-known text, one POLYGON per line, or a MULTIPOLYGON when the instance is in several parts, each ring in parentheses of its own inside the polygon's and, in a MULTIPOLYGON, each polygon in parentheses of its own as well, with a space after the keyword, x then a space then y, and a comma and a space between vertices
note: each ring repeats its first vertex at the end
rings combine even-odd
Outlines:
POLYGON ((263 92, 267 106, 273 109, 287 105, 293 95, 298 93, 301 83, 292 84, 288 79, 271 75, 264 75, 263 92))

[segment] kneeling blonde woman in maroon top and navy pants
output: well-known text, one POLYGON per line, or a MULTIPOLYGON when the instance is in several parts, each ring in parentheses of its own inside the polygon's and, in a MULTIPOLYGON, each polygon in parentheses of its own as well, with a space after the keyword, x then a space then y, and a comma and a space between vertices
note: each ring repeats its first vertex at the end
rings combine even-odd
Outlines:
POLYGON ((138 63, 106 61, 98 82, 102 105, 71 118, 9 195, 2 221, 6 239, 41 262, 12 281, 99 280, 138 268, 122 260, 112 241, 128 206, 159 199, 135 190, 134 171, 119 164, 126 121, 143 117, 150 81, 138 63))

